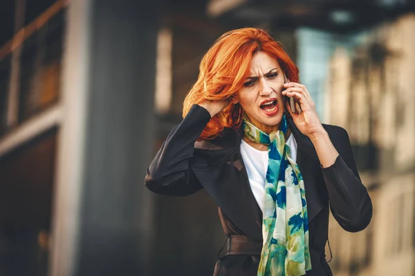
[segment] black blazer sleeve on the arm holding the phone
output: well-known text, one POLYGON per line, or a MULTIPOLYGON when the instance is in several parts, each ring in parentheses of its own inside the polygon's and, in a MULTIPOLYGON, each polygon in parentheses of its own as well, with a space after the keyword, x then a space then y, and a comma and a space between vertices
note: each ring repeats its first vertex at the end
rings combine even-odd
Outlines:
POLYGON ((347 131, 335 127, 329 136, 339 152, 335 163, 322 169, 331 213, 344 230, 358 232, 371 221, 371 199, 360 180, 347 131))

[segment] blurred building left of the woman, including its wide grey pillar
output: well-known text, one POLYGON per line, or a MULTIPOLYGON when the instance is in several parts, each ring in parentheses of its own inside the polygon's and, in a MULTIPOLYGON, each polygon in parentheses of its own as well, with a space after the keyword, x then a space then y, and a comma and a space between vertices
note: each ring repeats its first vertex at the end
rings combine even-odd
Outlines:
POLYGON ((0 275, 148 274, 158 3, 2 1, 0 275))

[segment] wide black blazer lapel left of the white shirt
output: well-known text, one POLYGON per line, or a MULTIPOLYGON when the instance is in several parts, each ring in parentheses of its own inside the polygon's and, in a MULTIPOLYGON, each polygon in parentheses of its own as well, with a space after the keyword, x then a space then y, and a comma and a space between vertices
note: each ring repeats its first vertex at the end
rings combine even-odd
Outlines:
POLYGON ((246 167, 239 152, 242 135, 243 130, 229 130, 223 138, 210 141, 210 146, 197 143, 198 155, 205 155, 203 159, 222 160, 225 163, 219 161, 219 166, 193 170, 232 224, 251 239, 259 241, 262 239, 262 212, 250 188, 246 167), (206 150, 208 148, 211 150, 206 150))

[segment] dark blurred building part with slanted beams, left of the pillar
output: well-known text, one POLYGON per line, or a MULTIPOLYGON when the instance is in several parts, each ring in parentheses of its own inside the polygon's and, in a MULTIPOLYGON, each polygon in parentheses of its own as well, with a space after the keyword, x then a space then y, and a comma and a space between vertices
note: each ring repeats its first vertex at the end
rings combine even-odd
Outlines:
POLYGON ((1 3, 0 275, 47 272, 65 12, 64 1, 1 3))

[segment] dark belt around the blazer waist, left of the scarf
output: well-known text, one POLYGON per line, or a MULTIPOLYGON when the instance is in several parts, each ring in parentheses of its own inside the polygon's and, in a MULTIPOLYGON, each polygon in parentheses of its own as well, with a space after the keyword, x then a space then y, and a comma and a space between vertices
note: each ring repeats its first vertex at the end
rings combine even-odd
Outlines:
POLYGON ((222 259, 228 255, 261 255, 262 242, 250 241, 243 235, 228 235, 222 249, 218 253, 218 258, 222 259), (226 246, 226 253, 219 257, 223 248, 226 246))

